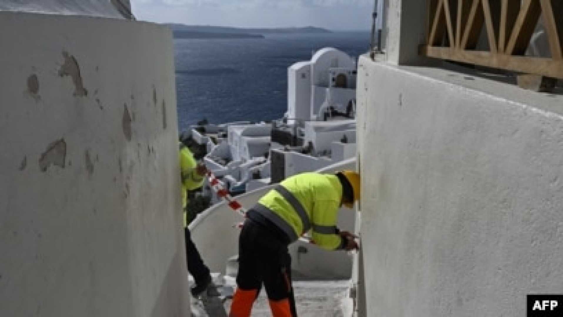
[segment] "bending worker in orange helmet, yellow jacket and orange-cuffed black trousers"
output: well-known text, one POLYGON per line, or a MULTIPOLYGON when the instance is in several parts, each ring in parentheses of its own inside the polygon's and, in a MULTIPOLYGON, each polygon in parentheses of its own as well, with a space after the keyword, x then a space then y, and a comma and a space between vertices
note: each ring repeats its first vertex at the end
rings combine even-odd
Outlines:
POLYGON ((352 250, 358 244, 336 227, 342 205, 352 208, 360 198, 360 175, 303 173, 284 180, 248 211, 239 238, 237 289, 232 317, 250 316, 262 283, 272 315, 297 316, 287 247, 312 232, 316 245, 327 250, 352 250))

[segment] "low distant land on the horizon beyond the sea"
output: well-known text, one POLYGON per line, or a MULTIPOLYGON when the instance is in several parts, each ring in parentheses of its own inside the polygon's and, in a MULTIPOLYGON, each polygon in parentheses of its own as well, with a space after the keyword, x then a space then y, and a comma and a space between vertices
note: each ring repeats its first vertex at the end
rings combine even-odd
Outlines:
POLYGON ((332 33, 323 28, 230 28, 228 26, 166 24, 174 38, 182 39, 227 39, 264 38, 264 34, 321 34, 332 33))

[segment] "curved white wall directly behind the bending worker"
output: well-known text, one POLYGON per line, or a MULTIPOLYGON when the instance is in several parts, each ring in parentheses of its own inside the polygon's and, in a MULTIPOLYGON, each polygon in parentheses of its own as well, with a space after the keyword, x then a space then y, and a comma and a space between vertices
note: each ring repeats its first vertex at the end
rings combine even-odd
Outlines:
MULTIPOLYGON (((355 158, 339 162, 320 170, 332 173, 341 169, 355 169, 355 158)), ((270 189, 260 188, 236 197, 242 205, 249 209, 270 189)), ((190 224, 191 236, 205 264, 212 271, 225 272, 229 257, 238 254, 239 229, 233 225, 243 221, 224 202, 204 211, 190 224)), ((338 227, 350 232, 354 231, 355 213, 350 209, 342 209, 338 215, 338 227)), ((301 248, 303 250, 303 248, 301 248)), ((324 251, 310 244, 296 242, 289 246, 292 256, 292 269, 310 279, 345 279, 350 278, 352 259, 344 251, 324 251), (298 253, 299 247, 305 247, 306 253, 298 253)))

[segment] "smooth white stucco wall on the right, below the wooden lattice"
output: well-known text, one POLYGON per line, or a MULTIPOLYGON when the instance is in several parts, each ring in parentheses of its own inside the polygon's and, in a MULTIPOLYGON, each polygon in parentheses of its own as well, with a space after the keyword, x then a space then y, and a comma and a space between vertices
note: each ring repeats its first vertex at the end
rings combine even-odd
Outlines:
POLYGON ((360 58, 370 316, 524 316, 563 293, 563 97, 360 58))

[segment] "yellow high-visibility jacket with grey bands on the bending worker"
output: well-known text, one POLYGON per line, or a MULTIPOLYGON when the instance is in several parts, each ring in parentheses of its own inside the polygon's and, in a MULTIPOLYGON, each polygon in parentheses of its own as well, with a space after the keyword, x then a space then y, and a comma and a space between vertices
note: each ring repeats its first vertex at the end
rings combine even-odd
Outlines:
POLYGON ((342 184, 334 174, 302 173, 285 179, 260 198, 253 209, 282 229, 290 241, 312 231, 321 248, 342 248, 336 223, 342 184))

